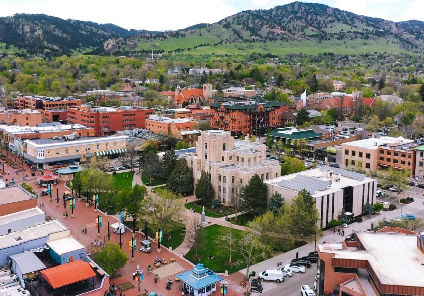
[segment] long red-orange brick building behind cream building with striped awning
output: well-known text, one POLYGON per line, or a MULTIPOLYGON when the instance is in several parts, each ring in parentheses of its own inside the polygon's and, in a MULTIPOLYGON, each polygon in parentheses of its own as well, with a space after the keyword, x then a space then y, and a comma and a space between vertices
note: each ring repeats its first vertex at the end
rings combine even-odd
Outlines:
POLYGON ((109 136, 126 129, 145 128, 146 118, 152 114, 151 108, 82 105, 68 108, 68 123, 94 128, 96 136, 109 136))

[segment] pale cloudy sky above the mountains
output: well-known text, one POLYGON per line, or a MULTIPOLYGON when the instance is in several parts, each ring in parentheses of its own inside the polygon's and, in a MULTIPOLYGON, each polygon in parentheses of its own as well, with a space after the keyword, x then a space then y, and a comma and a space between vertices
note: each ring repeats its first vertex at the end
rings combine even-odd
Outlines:
MULTIPOLYGON (((289 0, 159 0, 100 1, 0 0, 0 16, 47 14, 62 19, 113 23, 125 29, 152 31, 183 29, 214 23, 243 10, 269 9, 289 0)), ((359 15, 391 21, 424 20, 422 0, 307 0, 359 15)))

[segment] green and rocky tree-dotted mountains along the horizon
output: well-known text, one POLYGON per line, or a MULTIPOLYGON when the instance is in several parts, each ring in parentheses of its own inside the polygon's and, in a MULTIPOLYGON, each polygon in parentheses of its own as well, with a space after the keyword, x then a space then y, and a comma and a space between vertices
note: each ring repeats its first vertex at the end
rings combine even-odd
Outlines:
POLYGON ((3 53, 14 50, 52 56, 77 52, 141 56, 153 50, 174 55, 280 55, 421 53, 423 48, 424 22, 392 22, 302 2, 242 11, 214 24, 166 32, 126 30, 114 24, 43 14, 0 18, 3 53))

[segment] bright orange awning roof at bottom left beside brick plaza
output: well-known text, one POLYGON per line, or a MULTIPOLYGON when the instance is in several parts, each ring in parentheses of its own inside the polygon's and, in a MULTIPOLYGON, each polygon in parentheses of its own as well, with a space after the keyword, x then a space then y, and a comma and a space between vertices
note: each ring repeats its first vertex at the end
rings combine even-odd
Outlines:
POLYGON ((45 269, 40 271, 40 273, 53 289, 96 276, 90 264, 82 260, 76 260, 74 262, 45 269))

